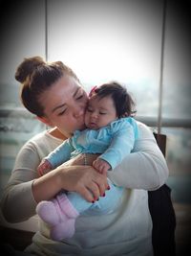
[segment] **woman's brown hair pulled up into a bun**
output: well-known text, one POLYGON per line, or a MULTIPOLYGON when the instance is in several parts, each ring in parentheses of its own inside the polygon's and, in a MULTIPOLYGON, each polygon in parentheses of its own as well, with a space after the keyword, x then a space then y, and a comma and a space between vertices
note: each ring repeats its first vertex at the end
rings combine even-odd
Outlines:
POLYGON ((73 70, 61 61, 49 63, 41 57, 24 58, 15 72, 15 80, 22 85, 20 97, 23 105, 33 114, 43 117, 44 108, 39 96, 64 75, 79 81, 73 70))

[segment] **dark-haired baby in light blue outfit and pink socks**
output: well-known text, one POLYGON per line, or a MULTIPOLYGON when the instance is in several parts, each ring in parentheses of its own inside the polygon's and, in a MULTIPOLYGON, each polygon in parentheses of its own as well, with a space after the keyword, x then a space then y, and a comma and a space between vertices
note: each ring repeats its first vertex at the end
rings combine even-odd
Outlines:
MULTIPOLYGON (((138 127, 132 116, 134 102, 126 89, 117 82, 102 84, 90 93, 85 112, 86 129, 74 131, 74 136, 64 141, 45 157, 37 171, 39 175, 56 168, 79 153, 100 154, 93 162, 97 172, 106 175, 113 171, 129 154, 138 138, 138 127)), ((36 212, 51 225, 51 237, 59 241, 74 235, 74 223, 79 214, 90 210, 99 213, 114 211, 123 188, 108 179, 110 190, 98 201, 88 202, 74 192, 60 192, 53 200, 41 201, 36 212)))

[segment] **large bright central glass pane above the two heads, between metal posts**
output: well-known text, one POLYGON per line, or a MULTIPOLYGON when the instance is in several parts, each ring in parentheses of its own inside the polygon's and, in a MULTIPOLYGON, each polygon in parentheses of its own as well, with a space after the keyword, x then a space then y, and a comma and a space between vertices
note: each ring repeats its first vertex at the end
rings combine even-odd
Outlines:
POLYGON ((71 66, 87 90, 105 81, 124 82, 137 99, 138 114, 156 116, 162 2, 48 3, 49 59, 71 66))

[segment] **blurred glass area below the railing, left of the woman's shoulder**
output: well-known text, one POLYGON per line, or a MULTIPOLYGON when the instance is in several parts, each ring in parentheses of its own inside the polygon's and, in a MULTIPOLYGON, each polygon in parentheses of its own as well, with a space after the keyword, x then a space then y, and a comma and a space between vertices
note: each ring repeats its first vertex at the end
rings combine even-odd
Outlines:
POLYGON ((0 194, 11 175, 14 160, 26 141, 45 125, 22 109, 0 109, 0 194))

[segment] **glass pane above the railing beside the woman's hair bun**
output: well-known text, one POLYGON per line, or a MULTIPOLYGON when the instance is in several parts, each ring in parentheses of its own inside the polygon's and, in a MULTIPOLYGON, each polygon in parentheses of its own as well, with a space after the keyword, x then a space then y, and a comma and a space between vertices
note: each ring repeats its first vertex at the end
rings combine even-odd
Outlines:
POLYGON ((23 58, 45 55, 44 9, 44 1, 39 0, 1 3, 0 106, 21 105, 15 69, 23 58))

